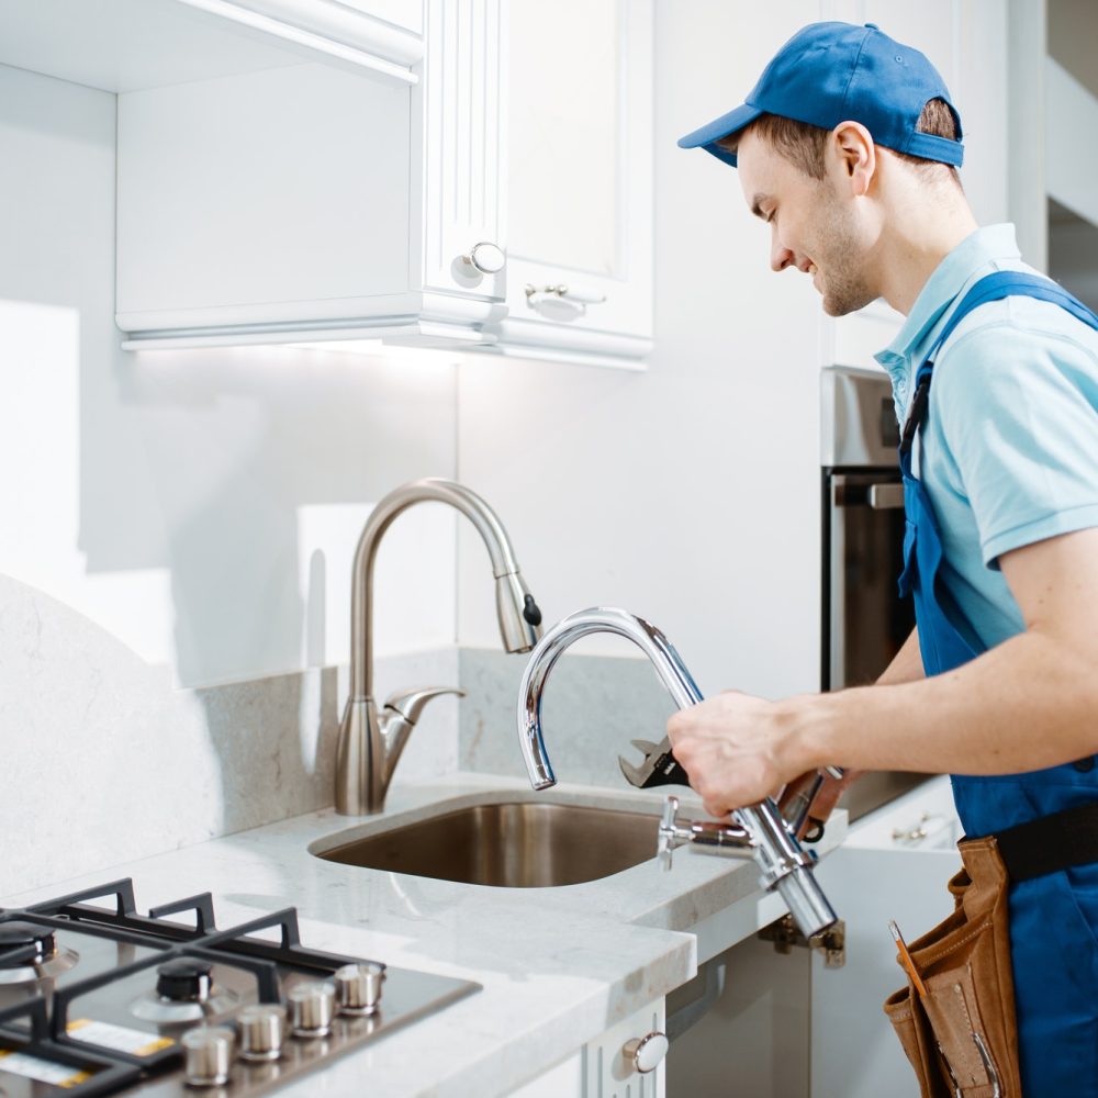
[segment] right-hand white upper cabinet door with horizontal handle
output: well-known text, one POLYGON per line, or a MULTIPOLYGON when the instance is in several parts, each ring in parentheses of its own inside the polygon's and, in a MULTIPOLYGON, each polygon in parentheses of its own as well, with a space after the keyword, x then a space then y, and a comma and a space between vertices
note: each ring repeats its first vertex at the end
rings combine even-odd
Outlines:
POLYGON ((508 4, 507 349, 651 349, 652 22, 651 0, 508 4))

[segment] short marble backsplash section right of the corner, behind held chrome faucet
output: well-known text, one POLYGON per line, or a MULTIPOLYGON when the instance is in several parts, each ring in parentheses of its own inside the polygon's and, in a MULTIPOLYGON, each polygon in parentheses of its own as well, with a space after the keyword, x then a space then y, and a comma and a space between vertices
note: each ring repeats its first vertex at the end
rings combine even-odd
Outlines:
MULTIPOLYGON (((516 708, 526 658, 490 649, 458 652, 461 770, 525 777, 516 708)), ((560 782, 624 786, 617 758, 639 763, 629 741, 659 742, 674 703, 646 659, 565 653, 541 699, 546 750, 560 782)))

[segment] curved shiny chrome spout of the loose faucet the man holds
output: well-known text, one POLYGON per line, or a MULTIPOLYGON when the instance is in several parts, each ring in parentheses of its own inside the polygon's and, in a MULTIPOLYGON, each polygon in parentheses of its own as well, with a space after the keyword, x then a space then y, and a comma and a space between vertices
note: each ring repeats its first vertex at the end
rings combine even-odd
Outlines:
POLYGON ((564 649, 592 632, 610 632, 631 640, 652 661, 680 709, 702 701, 702 692, 683 664, 682 657, 654 625, 612 606, 595 606, 570 614, 541 638, 526 665, 518 691, 518 737, 526 772, 535 789, 547 789, 557 784, 541 737, 541 694, 546 680, 564 649))

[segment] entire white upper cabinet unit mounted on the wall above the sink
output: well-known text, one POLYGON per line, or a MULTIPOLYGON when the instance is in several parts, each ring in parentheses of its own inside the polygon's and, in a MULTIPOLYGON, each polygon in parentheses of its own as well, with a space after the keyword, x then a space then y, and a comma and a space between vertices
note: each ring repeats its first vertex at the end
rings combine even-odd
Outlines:
POLYGON ((0 64, 117 96, 127 348, 637 366, 652 22, 652 0, 0 0, 0 64))

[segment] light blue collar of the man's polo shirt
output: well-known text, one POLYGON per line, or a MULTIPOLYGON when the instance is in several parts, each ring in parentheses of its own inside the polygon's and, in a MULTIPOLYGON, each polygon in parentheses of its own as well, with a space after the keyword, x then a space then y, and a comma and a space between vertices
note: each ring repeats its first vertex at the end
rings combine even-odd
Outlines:
POLYGON ((873 356, 892 376, 897 404, 906 403, 911 376, 929 354, 946 310, 973 276, 989 266, 1020 258, 1013 225, 986 225, 966 236, 938 265, 896 338, 873 356))

